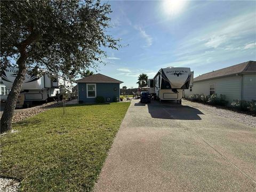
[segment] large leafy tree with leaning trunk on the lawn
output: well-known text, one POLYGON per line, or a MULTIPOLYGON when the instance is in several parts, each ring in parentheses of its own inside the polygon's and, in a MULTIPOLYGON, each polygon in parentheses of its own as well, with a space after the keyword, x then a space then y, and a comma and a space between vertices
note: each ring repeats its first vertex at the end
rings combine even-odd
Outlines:
POLYGON ((118 49, 107 33, 109 4, 100 1, 1 1, 1 68, 18 67, 1 118, 11 130, 15 103, 27 69, 44 68, 73 78, 118 49))

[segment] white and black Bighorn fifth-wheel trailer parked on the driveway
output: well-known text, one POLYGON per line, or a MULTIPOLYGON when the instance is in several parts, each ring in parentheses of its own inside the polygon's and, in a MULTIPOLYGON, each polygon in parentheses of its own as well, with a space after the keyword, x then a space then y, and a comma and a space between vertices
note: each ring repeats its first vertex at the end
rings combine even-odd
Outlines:
POLYGON ((181 103, 183 91, 193 85, 194 72, 187 67, 168 67, 154 77, 155 97, 161 100, 176 100, 181 103))

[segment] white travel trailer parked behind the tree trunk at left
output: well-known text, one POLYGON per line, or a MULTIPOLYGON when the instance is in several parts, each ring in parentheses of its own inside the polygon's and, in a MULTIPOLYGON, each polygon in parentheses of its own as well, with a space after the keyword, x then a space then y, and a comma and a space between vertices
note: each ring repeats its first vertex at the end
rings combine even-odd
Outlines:
MULTIPOLYGON (((1 71, 1 78, 7 90, 12 88, 17 72, 17 68, 7 68, 1 71)), ((38 74, 27 73, 20 94, 24 95, 25 102, 31 103, 31 101, 47 101, 50 97, 62 93, 63 90, 71 92, 71 89, 70 81, 43 71, 38 74)))

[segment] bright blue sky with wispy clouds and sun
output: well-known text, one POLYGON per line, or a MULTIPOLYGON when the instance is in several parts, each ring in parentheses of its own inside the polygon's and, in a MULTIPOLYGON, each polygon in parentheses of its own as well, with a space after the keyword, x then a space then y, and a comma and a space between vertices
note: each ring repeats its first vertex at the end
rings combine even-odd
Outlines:
MULTIPOLYGON (((194 77, 256 60, 256 1, 107 1, 107 33, 121 38, 107 49, 97 73, 138 87, 165 67, 190 67, 194 77)), ((95 72, 96 73, 96 72, 95 72)))

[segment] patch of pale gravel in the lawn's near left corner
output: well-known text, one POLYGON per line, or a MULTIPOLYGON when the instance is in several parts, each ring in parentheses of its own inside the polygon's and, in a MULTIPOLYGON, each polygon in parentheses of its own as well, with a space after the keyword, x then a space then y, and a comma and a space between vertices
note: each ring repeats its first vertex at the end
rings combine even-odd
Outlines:
POLYGON ((20 182, 14 179, 0 178, 1 192, 16 192, 19 191, 20 182))

